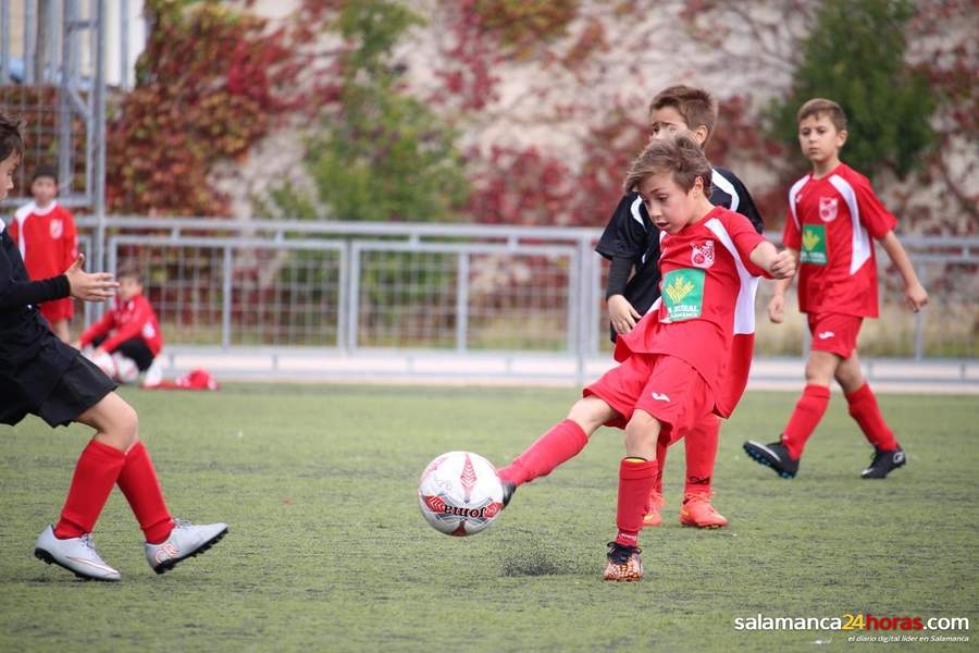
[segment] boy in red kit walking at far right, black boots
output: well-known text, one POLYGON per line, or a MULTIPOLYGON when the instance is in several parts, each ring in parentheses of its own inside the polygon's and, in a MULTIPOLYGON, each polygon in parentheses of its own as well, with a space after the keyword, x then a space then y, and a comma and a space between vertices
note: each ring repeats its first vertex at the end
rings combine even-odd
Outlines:
MULTIPOLYGON (((744 451, 785 479, 794 478, 806 441, 829 404, 833 379, 843 389, 850 415, 873 445, 865 479, 883 479, 905 463, 904 452, 884 422, 877 397, 864 379, 856 353, 864 318, 876 318, 877 261, 872 239, 881 246, 904 280, 904 296, 915 312, 928 293, 894 235, 897 220, 880 204, 867 177, 840 161, 846 143, 846 115, 831 100, 816 98, 798 110, 798 144, 813 172, 789 190, 783 241, 800 261, 798 307, 808 316, 813 334, 806 362, 806 386, 779 442, 744 443, 744 451)), ((772 322, 781 322, 785 288, 776 285, 768 305, 772 322)))

